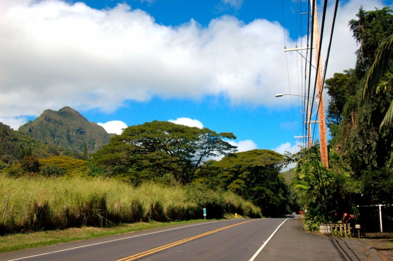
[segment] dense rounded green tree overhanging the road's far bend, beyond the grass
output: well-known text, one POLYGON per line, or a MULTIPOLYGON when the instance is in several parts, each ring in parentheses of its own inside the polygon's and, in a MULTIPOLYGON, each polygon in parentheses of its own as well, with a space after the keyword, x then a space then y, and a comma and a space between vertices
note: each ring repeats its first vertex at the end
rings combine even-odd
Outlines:
POLYGON ((251 200, 265 216, 287 212, 288 187, 279 175, 282 155, 252 150, 207 162, 197 172, 196 183, 232 191, 251 200))

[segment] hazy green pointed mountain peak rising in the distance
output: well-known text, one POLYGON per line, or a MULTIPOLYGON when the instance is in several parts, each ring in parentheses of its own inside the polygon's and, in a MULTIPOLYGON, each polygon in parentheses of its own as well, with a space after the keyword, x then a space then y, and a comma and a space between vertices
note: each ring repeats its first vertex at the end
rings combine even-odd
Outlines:
POLYGON ((45 110, 34 121, 19 127, 18 131, 73 152, 83 152, 86 143, 88 153, 99 150, 109 143, 112 136, 102 126, 89 122, 81 113, 70 107, 45 110))

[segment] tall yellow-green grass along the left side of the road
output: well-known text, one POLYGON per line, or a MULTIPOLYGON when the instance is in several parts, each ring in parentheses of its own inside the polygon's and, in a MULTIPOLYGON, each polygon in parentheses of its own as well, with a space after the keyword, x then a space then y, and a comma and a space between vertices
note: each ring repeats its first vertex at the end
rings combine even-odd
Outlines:
POLYGON ((259 208, 231 192, 192 185, 144 183, 133 187, 104 178, 0 176, 0 234, 82 225, 111 226, 119 222, 187 220, 201 218, 202 208, 207 208, 208 218, 234 212, 261 216, 259 208))

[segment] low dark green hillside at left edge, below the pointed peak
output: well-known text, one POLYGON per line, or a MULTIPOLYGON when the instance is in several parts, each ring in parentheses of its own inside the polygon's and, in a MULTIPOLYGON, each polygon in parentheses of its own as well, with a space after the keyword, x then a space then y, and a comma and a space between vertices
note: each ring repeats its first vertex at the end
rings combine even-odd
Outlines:
POLYGON ((42 144, 34 138, 11 129, 0 122, 0 163, 15 164, 21 150, 31 146, 32 155, 39 158, 58 155, 58 148, 53 145, 42 144))

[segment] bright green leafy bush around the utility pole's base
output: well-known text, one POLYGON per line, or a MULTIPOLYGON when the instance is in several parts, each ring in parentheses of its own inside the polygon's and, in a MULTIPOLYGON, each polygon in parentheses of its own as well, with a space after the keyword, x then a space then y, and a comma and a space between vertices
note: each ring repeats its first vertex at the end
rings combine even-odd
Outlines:
MULTIPOLYGON (((329 153, 327 169, 320 160, 319 146, 286 155, 287 162, 297 161, 294 189, 311 229, 354 212, 354 197, 361 191, 360 182, 353 178, 350 166, 333 150, 329 153), (307 209, 307 210, 306 210, 307 209)), ((338 221, 338 220, 336 220, 338 221)))

